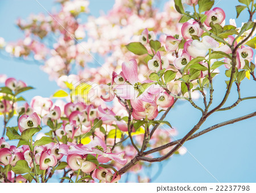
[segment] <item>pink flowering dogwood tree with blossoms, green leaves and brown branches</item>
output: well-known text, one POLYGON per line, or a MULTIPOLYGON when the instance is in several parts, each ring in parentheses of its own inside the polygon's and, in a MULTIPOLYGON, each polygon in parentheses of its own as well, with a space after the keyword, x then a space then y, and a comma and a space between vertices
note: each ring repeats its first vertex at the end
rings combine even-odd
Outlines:
MULTIPOLYGON (((243 79, 256 81, 256 3, 236 3, 237 18, 249 12, 241 27, 235 20, 226 24, 214 0, 170 1, 163 11, 151 0, 119 0, 107 15, 87 15, 85 23, 89 2, 63 0, 58 12, 19 19, 24 39, 0 38, 0 48, 25 62, 42 63, 60 89, 49 98, 35 96, 29 105, 22 94, 33 87, 1 75, 0 181, 48 182, 61 175, 60 182, 118 182, 125 173, 150 167, 148 162, 185 153, 188 140, 256 116, 254 111, 197 132, 217 111, 256 98, 240 91, 243 79), (98 63, 96 55, 104 64, 90 67, 98 63), (220 72, 220 66, 227 70, 220 72), (213 82, 220 73, 226 75, 226 92, 213 106, 213 82), (238 98, 226 106, 232 86, 238 98), (195 101, 199 95, 201 105, 195 101), (189 102, 201 117, 183 138, 173 140, 170 134, 177 131, 165 118, 177 100, 189 102)), ((150 177, 138 175, 138 181, 150 177)))

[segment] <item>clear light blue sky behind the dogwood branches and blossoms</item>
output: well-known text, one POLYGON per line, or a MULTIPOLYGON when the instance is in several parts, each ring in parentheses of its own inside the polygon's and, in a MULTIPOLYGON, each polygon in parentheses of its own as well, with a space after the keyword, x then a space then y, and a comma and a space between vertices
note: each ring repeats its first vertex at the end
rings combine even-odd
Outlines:
MULTIPOLYGON (((55 5, 52 0, 39 0, 39 2, 51 11, 55 5)), ((163 8, 164 2, 159 1, 159 7, 163 8)), ((107 12, 113 6, 112 0, 90 1, 90 12, 94 16, 100 15, 100 11, 107 12)), ((237 0, 216 1, 217 6, 224 9, 226 23, 230 18, 236 18, 237 0)), ((23 38, 23 33, 16 27, 17 18, 26 19, 30 14, 38 14, 46 11, 36 2, 0 1, 0 37, 7 42, 23 38)), ((237 25, 246 22, 248 14, 244 11, 237 20, 237 25)), ((225 68, 220 68, 221 72, 225 68)), ((0 74, 23 80, 27 85, 36 89, 24 93, 24 97, 30 101, 32 97, 40 95, 51 96, 57 89, 55 82, 48 79, 48 75, 40 70, 36 64, 27 64, 11 58, 3 59, 0 56, 0 74)), ((224 73, 218 75, 213 81, 214 100, 212 107, 220 103, 225 95, 227 80, 224 73)), ((242 97, 256 96, 256 82, 245 79, 241 84, 242 97)), ((229 102, 225 106, 232 105, 237 100, 236 87, 233 85, 229 102)), ((201 105, 201 100, 196 101, 201 105)), ((229 111, 218 112, 211 115, 200 130, 232 118, 241 117, 252 113, 256 109, 256 100, 242 101, 240 105, 229 111)), ((197 123, 200 111, 196 110, 187 101, 179 101, 175 108, 168 114, 167 120, 177 128, 179 134, 176 139, 182 138, 197 123)), ((2 119, 2 118, 0 118, 2 119)), ((163 171, 154 182, 256 182, 256 117, 247 119, 233 125, 217 128, 199 138, 187 141, 185 147, 188 152, 183 156, 173 156, 163 162, 163 171)), ((2 121, 0 122, 0 126, 2 121)), ((153 164, 151 177, 157 174, 158 163, 153 164)), ((124 181, 125 178, 122 178, 124 181)), ((133 181, 133 178, 131 178, 133 181)), ((57 181, 56 181, 57 182, 57 181)))

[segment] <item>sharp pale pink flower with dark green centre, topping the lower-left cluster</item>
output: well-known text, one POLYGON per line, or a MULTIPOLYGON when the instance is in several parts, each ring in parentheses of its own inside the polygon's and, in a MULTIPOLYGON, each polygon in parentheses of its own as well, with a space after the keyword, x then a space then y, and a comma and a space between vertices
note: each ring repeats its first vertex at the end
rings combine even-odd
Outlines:
POLYGON ((38 114, 22 115, 18 121, 19 131, 23 132, 27 128, 38 127, 40 125, 40 118, 38 114))

